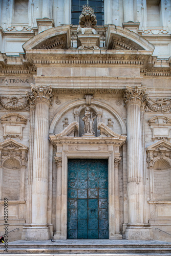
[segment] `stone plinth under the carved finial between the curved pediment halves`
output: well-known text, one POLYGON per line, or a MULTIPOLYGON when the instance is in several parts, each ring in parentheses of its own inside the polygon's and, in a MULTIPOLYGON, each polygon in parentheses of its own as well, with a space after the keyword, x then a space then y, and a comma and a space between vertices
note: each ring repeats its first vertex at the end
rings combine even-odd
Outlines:
POLYGON ((78 50, 95 49, 99 50, 100 35, 84 34, 78 36, 78 50))

